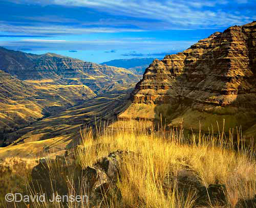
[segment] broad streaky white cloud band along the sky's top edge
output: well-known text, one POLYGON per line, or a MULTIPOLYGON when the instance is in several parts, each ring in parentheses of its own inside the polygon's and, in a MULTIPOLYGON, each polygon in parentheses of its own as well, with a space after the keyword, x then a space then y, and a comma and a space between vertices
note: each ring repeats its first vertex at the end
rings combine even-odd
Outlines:
MULTIPOLYGON (((73 7, 93 8, 102 12, 109 12, 114 15, 122 15, 134 18, 147 18, 167 22, 179 28, 202 28, 209 26, 226 27, 228 25, 241 25, 248 22, 250 17, 245 15, 235 15, 228 10, 223 10, 221 6, 233 4, 233 1, 201 1, 194 0, 10 0, 15 3, 30 3, 42 5, 60 5, 73 7), (129 9, 127 9, 129 8, 129 9)), ((236 0, 237 4, 246 4, 247 0, 236 0)))

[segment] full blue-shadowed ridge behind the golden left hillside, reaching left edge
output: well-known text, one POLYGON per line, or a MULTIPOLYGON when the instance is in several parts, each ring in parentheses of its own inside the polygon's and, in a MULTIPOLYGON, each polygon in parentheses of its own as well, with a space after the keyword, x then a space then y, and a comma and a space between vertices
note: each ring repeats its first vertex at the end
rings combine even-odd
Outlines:
POLYGON ((58 54, 27 54, 0 48, 0 68, 20 80, 87 85, 96 94, 113 84, 135 83, 141 76, 125 68, 100 65, 58 54))

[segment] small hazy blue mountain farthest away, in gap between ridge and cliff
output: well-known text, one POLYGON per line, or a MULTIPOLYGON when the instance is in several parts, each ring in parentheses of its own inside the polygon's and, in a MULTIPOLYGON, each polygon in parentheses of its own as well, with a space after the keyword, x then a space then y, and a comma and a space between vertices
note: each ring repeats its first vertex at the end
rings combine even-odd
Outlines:
POLYGON ((143 75, 145 69, 152 63, 155 58, 131 58, 131 59, 115 59, 100 64, 109 66, 127 68, 137 75, 143 75))

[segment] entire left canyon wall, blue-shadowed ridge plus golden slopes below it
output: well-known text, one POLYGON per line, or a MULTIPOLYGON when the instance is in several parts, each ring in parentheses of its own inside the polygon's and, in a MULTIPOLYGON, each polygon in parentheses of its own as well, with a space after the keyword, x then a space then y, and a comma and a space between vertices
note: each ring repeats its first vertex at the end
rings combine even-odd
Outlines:
POLYGON ((2 47, 0 70, 1 136, 141 78, 125 68, 2 47))

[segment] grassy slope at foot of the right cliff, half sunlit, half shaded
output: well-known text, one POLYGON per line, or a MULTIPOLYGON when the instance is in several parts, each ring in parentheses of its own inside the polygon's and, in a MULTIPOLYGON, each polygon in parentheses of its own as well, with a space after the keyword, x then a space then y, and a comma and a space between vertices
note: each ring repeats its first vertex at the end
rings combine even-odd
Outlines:
POLYGON ((246 136, 248 142, 251 138, 256 137, 255 130, 255 117, 254 112, 248 111, 246 108, 237 107, 221 107, 221 106, 204 106, 201 110, 199 107, 185 106, 182 104, 130 104, 127 109, 119 115, 120 120, 126 119, 141 119, 154 121, 155 123, 168 124, 169 127, 177 127, 182 121, 184 128, 199 131, 199 122, 201 123, 200 129, 204 132, 218 133, 223 129, 226 133, 242 126, 242 131, 246 136), (241 119, 243 118, 243 119, 241 119), (247 119, 244 119, 247 118, 247 119))

